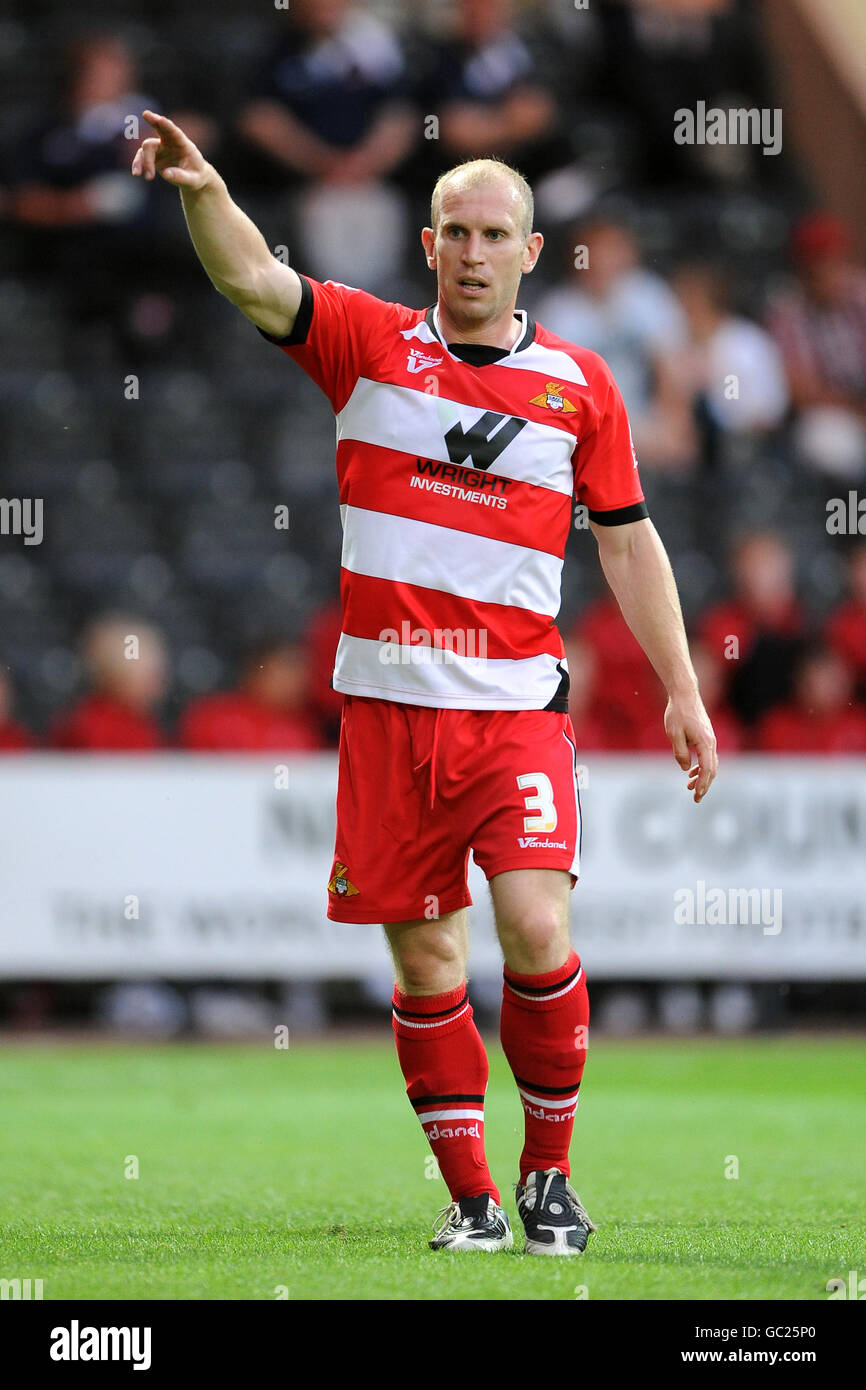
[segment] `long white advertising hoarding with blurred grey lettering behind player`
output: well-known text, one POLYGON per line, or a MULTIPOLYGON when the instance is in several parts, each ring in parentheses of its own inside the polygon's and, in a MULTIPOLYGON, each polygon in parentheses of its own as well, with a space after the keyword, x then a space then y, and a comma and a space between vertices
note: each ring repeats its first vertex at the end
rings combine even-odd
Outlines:
MULTIPOLYGON (((699 806, 666 756, 588 756, 581 780, 592 977, 866 979, 866 759, 727 758, 699 806)), ((329 753, 6 758, 0 979, 381 967, 377 927, 325 916, 335 785, 329 753)), ((498 972, 474 865, 470 885, 473 969, 498 972)))

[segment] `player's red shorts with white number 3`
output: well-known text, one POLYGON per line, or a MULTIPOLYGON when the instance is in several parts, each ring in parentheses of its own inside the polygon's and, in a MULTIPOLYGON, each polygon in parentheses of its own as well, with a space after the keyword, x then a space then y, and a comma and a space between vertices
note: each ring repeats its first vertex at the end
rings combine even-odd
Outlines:
POLYGON ((553 710, 427 709, 346 695, 339 738, 335 922, 410 922, 471 905, 488 878, 578 873, 577 749, 553 710))

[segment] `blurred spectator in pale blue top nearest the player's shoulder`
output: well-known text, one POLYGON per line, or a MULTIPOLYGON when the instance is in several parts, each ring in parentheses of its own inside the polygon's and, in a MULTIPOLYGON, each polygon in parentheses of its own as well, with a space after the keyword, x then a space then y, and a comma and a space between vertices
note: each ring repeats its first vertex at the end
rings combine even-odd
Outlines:
POLYGON ((676 385, 674 354, 687 343, 685 314, 667 282, 641 265, 631 229, 609 217, 567 236, 569 279, 537 304, 538 321, 601 353, 623 393, 641 464, 688 467, 698 441, 676 385))

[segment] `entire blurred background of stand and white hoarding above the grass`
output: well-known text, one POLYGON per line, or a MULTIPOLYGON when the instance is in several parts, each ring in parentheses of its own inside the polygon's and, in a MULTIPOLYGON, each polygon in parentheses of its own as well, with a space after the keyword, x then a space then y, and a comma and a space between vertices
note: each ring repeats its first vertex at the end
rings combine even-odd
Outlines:
POLYGON ((518 302, 614 371, 723 755, 685 816, 663 689, 578 517, 560 630, 594 1017, 862 1027, 856 0, 7 0, 0 93, 0 1024, 381 1029, 391 992, 377 929, 324 916, 334 420, 213 291, 177 192, 129 177, 153 107, 274 254, 413 306, 438 174, 499 154, 530 178, 546 245, 518 302), (776 115, 780 147, 677 143, 701 103, 776 115), (676 922, 698 881, 780 891, 780 931, 676 922))

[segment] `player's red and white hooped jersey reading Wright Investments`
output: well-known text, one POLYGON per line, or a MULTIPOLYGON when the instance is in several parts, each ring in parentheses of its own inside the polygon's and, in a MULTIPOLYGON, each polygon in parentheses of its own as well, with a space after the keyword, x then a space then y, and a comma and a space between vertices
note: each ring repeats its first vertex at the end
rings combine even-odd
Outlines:
POLYGON ((601 524, 646 516, 607 364, 525 310, 510 350, 448 345, 436 309, 300 279, 295 327, 270 341, 336 416, 334 688, 448 709, 567 709, 556 614, 573 499, 601 524))

